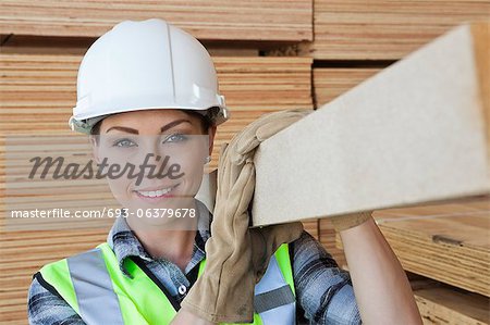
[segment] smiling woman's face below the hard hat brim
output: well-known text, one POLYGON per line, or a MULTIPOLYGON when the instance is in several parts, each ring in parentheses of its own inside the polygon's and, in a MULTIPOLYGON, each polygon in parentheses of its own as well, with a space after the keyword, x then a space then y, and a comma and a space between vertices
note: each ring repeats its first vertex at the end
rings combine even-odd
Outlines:
POLYGON ((177 210, 182 216, 195 208, 215 134, 216 127, 204 130, 198 116, 181 110, 120 113, 101 122, 94 155, 127 217, 170 226, 177 210))

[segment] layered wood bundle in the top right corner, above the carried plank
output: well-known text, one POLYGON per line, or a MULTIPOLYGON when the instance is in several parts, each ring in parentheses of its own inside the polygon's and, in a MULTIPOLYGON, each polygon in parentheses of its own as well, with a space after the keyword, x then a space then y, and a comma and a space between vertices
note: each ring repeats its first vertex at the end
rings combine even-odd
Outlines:
POLYGON ((317 60, 396 60, 448 29, 490 18, 487 0, 316 0, 313 43, 317 60))

